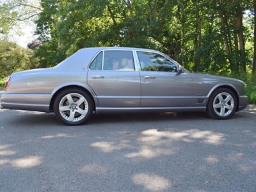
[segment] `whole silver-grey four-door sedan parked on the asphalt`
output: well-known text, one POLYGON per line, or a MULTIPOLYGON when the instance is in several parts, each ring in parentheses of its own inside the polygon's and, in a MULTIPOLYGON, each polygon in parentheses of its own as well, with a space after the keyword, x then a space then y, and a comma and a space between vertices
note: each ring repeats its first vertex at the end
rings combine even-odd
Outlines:
POLYGON ((1 108, 54 112, 66 125, 95 113, 206 111, 230 118, 248 105, 243 81, 194 74, 165 54, 132 47, 80 49, 51 68, 13 73, 1 108))

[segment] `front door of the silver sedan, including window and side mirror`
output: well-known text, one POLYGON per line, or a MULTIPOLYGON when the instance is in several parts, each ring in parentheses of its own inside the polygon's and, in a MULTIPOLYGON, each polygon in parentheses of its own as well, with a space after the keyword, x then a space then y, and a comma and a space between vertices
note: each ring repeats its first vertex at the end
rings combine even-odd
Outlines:
POLYGON ((138 51, 141 71, 141 107, 188 107, 193 100, 193 79, 177 72, 177 63, 158 52, 138 51))

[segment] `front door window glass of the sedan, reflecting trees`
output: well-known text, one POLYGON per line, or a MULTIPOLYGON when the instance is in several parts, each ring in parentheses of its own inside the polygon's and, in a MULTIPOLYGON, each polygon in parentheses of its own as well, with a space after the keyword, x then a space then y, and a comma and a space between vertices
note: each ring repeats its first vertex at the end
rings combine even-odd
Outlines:
POLYGON ((177 65, 156 52, 138 51, 141 70, 159 72, 177 72, 177 65))

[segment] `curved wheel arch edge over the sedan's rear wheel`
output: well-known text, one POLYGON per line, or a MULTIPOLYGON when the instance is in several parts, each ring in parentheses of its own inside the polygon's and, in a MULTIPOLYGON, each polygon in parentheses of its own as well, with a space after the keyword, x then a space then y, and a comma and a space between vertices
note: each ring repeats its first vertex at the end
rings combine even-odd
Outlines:
POLYGON ((50 112, 54 112, 53 110, 53 106, 54 106, 54 100, 56 99, 56 97, 58 96, 58 94, 60 92, 62 92, 63 90, 66 90, 68 88, 79 88, 81 90, 83 90, 84 92, 88 93, 88 95, 90 95, 91 99, 93 100, 93 111, 95 111, 96 105, 97 105, 97 98, 93 97, 92 92, 90 92, 87 88, 84 88, 83 86, 79 86, 79 85, 67 85, 67 86, 63 86, 61 88, 59 88, 58 90, 56 90, 56 92, 52 95, 51 98, 51 102, 50 102, 50 112))

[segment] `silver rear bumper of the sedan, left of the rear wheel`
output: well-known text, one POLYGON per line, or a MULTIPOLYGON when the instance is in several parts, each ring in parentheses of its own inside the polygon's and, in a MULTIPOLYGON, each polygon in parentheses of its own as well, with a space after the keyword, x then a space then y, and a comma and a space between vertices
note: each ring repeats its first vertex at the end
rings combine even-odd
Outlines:
POLYGON ((2 93, 0 106, 2 109, 50 112, 51 94, 15 94, 2 93))

